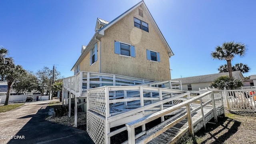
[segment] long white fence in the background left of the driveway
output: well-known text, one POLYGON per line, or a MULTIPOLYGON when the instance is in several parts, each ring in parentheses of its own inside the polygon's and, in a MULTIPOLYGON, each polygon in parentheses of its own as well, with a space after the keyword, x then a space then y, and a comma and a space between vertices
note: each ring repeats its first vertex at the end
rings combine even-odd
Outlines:
MULTIPOLYGON (((31 95, 10 95, 9 102, 22 102, 26 101, 26 98, 31 97, 31 95)), ((49 96, 41 96, 41 94, 33 94, 33 100, 36 100, 38 96, 38 100, 49 100, 49 96)), ((6 96, 0 96, 0 103, 4 103, 6 96)))

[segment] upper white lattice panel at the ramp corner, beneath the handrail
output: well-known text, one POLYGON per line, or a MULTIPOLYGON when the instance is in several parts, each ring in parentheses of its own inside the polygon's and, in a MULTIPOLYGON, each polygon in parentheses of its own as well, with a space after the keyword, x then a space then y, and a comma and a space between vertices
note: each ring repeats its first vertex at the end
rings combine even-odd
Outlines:
POLYGON ((105 88, 89 90, 88 92, 89 110, 106 116, 105 88))

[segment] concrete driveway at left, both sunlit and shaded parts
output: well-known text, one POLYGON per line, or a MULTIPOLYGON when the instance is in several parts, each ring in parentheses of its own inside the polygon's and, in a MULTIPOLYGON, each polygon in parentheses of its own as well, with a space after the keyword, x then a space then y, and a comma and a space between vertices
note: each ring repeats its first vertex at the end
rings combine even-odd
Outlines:
POLYGON ((0 113, 0 144, 94 144, 84 130, 44 120, 49 101, 0 113))

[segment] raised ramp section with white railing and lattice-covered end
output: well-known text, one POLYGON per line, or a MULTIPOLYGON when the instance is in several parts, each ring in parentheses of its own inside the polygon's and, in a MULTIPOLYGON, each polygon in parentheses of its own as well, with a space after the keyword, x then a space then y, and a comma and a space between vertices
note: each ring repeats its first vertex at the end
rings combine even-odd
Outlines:
POLYGON ((187 100, 189 94, 181 90, 150 86, 104 86, 89 89, 88 134, 97 144, 110 144, 110 137, 126 130, 126 127, 112 132, 110 128, 164 110, 173 106, 173 100, 187 100))

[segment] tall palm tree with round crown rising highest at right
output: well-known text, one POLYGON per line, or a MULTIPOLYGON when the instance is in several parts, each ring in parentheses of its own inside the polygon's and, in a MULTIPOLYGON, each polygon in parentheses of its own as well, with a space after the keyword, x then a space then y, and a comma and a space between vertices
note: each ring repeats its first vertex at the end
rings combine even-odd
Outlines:
POLYGON ((241 42, 224 42, 221 46, 215 48, 215 51, 211 53, 211 56, 213 59, 226 60, 229 77, 233 78, 231 60, 233 60, 236 55, 243 57, 246 50, 246 45, 241 42))

